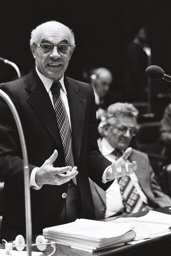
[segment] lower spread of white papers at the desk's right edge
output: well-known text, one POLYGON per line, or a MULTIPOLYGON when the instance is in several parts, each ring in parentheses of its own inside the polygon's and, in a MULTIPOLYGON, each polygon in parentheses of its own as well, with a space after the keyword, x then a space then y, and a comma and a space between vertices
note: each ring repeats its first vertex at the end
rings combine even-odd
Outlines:
POLYGON ((171 233, 171 215, 153 210, 149 210, 146 215, 141 217, 120 217, 110 222, 120 224, 134 223, 134 240, 148 239, 171 233))

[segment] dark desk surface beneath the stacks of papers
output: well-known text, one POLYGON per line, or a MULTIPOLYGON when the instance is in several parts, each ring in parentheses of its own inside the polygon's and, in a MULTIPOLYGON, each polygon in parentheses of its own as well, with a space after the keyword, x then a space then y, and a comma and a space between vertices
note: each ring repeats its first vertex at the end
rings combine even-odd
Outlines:
MULTIPOLYGON (((163 213, 171 214, 168 207, 155 209, 163 213)), ((142 216, 142 213, 127 214, 125 216, 142 216)), ((115 219, 116 217, 105 219, 104 221, 115 219)), ((4 248, 4 244, 0 244, 0 248, 4 248)), ((33 250, 37 250, 36 246, 32 247, 33 250)), ((48 256, 52 252, 52 247, 47 245, 46 251, 42 254, 43 256, 48 256)), ((143 241, 137 244, 127 244, 120 245, 114 248, 100 250, 96 252, 86 252, 78 249, 70 248, 69 246, 64 246, 56 244, 56 251, 54 256, 107 256, 107 255, 117 255, 117 256, 170 256, 171 255, 171 233, 164 235, 162 237, 152 238, 150 240, 143 241)))

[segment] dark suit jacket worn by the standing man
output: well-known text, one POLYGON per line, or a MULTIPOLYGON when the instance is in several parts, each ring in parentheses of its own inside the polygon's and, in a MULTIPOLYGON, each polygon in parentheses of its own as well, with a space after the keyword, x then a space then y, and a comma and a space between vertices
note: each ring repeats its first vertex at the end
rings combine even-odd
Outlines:
MULTIPOLYGON (((103 189, 104 169, 110 164, 98 150, 96 142, 95 103, 92 87, 64 78, 70 110, 73 137, 73 155, 77 166, 78 187, 81 197, 81 217, 95 218, 88 176, 103 189)), ((30 172, 53 153, 58 157, 53 166, 64 166, 64 154, 54 109, 35 69, 20 79, 0 85, 8 94, 22 124, 27 147, 30 172)), ((18 132, 11 111, 0 98, 0 178, 4 180, 3 231, 24 233, 23 160, 18 132)), ((32 233, 41 233, 44 227, 57 224, 67 193, 68 183, 31 188, 32 233)), ((3 237, 4 238, 4 237, 3 237)))

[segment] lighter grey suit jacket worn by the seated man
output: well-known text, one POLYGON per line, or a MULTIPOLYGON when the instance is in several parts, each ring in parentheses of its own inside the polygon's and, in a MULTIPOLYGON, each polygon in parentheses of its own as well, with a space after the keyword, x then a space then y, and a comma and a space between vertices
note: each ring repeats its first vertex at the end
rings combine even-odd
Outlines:
MULTIPOLYGON (((147 155, 133 149, 129 156, 129 160, 130 162, 133 160, 137 162, 137 170, 135 173, 141 189, 148 199, 148 205, 152 208, 171 205, 171 198, 162 192, 160 186, 155 180, 155 175, 149 164, 147 155)), ((105 215, 105 191, 103 191, 91 180, 90 188, 92 192, 96 218, 102 219, 105 215)))

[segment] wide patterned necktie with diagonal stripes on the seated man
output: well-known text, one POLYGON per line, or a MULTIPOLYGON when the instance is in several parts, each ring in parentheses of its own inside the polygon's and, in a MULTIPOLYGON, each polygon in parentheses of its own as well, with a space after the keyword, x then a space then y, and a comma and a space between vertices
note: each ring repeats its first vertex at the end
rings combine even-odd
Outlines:
MULTIPOLYGON (((113 154, 116 156, 116 160, 122 155, 117 149, 113 151, 113 154)), ((117 182, 120 187, 122 203, 126 213, 133 213, 147 209, 129 175, 126 174, 117 178, 117 182)))

